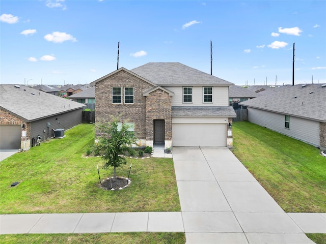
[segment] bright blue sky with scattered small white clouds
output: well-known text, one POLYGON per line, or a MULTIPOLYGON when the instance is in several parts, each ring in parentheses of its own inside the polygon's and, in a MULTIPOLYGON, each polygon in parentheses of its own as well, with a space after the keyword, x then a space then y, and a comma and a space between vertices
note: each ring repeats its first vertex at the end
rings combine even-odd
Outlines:
POLYGON ((0 1, 0 82, 179 62, 237 85, 326 83, 326 1, 0 1))

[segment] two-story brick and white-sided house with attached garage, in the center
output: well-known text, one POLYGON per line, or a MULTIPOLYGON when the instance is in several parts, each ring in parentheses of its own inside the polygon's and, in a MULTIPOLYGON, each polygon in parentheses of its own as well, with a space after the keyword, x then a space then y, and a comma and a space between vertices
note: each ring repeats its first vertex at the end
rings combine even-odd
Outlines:
POLYGON ((91 83, 95 123, 120 115, 139 145, 231 147, 236 117, 229 107, 232 84, 180 63, 120 68, 91 83))

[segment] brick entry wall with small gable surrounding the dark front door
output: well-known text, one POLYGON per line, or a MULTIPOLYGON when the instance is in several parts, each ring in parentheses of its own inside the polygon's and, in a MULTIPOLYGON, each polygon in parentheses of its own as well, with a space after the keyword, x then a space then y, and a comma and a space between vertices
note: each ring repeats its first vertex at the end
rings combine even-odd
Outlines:
POLYGON ((153 119, 164 119, 165 140, 172 140, 171 96, 161 89, 149 94, 146 101, 146 140, 153 140, 153 119))

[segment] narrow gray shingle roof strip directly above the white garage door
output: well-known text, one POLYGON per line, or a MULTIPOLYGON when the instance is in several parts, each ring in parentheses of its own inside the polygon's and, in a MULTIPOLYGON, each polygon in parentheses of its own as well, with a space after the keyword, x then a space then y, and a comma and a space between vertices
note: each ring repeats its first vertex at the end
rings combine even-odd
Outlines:
POLYGON ((178 116, 236 117, 236 113, 232 107, 172 107, 172 117, 178 116))

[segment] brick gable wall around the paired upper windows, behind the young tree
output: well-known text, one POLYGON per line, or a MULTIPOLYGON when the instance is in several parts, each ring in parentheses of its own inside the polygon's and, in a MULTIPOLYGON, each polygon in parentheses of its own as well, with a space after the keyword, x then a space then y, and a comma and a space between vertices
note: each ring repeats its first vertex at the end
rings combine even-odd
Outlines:
MULTIPOLYGON (((146 138, 146 97, 143 96, 144 90, 153 85, 142 79, 121 70, 110 77, 106 77, 96 83, 95 88, 95 124, 104 123, 111 120, 112 116, 118 117, 119 121, 134 123, 134 132, 138 139, 146 138), (112 87, 122 87, 122 103, 112 103, 112 87), (134 103, 124 104, 123 87, 133 87, 134 103)), ((95 138, 99 132, 95 131, 95 138)))

